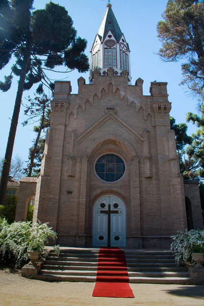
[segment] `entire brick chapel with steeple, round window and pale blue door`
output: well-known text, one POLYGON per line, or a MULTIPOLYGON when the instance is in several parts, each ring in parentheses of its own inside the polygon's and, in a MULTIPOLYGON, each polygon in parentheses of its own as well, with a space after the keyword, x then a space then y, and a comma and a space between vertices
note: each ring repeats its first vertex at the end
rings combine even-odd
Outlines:
POLYGON ((168 248, 202 215, 197 181, 180 174, 167 83, 151 82, 149 95, 142 79, 133 85, 110 3, 90 51, 78 94, 55 82, 41 172, 21 179, 16 221, 35 195, 33 222, 49 222, 61 246, 168 248))

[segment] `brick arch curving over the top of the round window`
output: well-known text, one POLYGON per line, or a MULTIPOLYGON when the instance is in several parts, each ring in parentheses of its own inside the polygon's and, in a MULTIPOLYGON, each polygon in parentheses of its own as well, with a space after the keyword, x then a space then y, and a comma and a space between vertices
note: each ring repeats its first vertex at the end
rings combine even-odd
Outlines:
POLYGON ((90 158, 90 156, 92 156, 94 154, 94 151, 97 148, 98 144, 103 143, 106 140, 115 140, 115 141, 121 143, 126 148, 126 150, 130 153, 131 159, 134 159, 135 157, 137 158, 137 154, 136 154, 136 151, 133 148, 133 146, 127 140, 125 140, 124 138, 119 137, 117 135, 106 135, 106 136, 103 136, 103 137, 99 137, 95 141, 93 141, 92 144, 89 145, 89 147, 87 148, 87 150, 85 152, 85 154, 88 156, 88 158, 90 158))

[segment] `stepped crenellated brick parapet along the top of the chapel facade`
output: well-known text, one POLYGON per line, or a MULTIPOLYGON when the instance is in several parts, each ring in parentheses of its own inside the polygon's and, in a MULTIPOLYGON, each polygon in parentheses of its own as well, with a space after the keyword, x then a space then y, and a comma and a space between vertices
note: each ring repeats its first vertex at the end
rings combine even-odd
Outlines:
POLYGON ((141 78, 136 80, 135 85, 129 85, 128 78, 127 71, 115 75, 114 69, 109 68, 107 75, 101 75, 98 70, 95 70, 92 84, 86 84, 83 77, 78 79, 78 94, 71 94, 69 81, 56 82, 54 99, 51 103, 54 113, 52 122, 64 122, 67 125, 71 116, 73 119, 77 119, 79 112, 84 113, 87 110, 90 112, 89 107, 93 107, 93 112, 96 112, 96 106, 98 119, 101 117, 101 112, 106 114, 112 108, 120 117, 119 109, 127 106, 131 112, 134 108, 136 117, 139 112, 142 112, 144 120, 147 120, 147 116, 150 114, 153 126, 157 125, 157 121, 161 119, 163 120, 162 124, 169 125, 171 103, 168 101, 167 83, 151 82, 150 95, 147 96, 143 95, 143 80, 141 78), (66 115, 66 118, 62 118, 62 114, 66 115), (166 116, 158 117, 158 115, 166 116))

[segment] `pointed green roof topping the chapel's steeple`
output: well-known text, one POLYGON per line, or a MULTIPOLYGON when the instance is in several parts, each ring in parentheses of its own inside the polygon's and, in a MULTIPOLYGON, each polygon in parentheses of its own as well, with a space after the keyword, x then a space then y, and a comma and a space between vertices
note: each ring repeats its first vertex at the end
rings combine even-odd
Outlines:
POLYGON ((101 37, 101 41, 105 39, 109 31, 111 31, 117 42, 119 42, 122 32, 115 18, 111 5, 107 5, 106 13, 98 30, 98 35, 101 37))

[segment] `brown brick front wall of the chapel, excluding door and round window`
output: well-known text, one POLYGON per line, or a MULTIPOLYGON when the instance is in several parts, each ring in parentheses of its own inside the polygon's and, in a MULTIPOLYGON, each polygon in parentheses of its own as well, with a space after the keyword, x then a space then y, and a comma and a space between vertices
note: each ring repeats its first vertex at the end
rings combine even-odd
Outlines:
MULTIPOLYGON (((139 80, 140 81, 140 80, 139 80)), ((51 127, 37 181, 34 222, 49 222, 58 243, 92 245, 92 211, 106 194, 126 206, 127 247, 165 247, 187 227, 183 179, 170 130, 166 83, 127 85, 127 73, 94 72, 94 83, 56 82, 51 127), (119 155, 126 170, 118 182, 98 179, 94 164, 119 155)))

